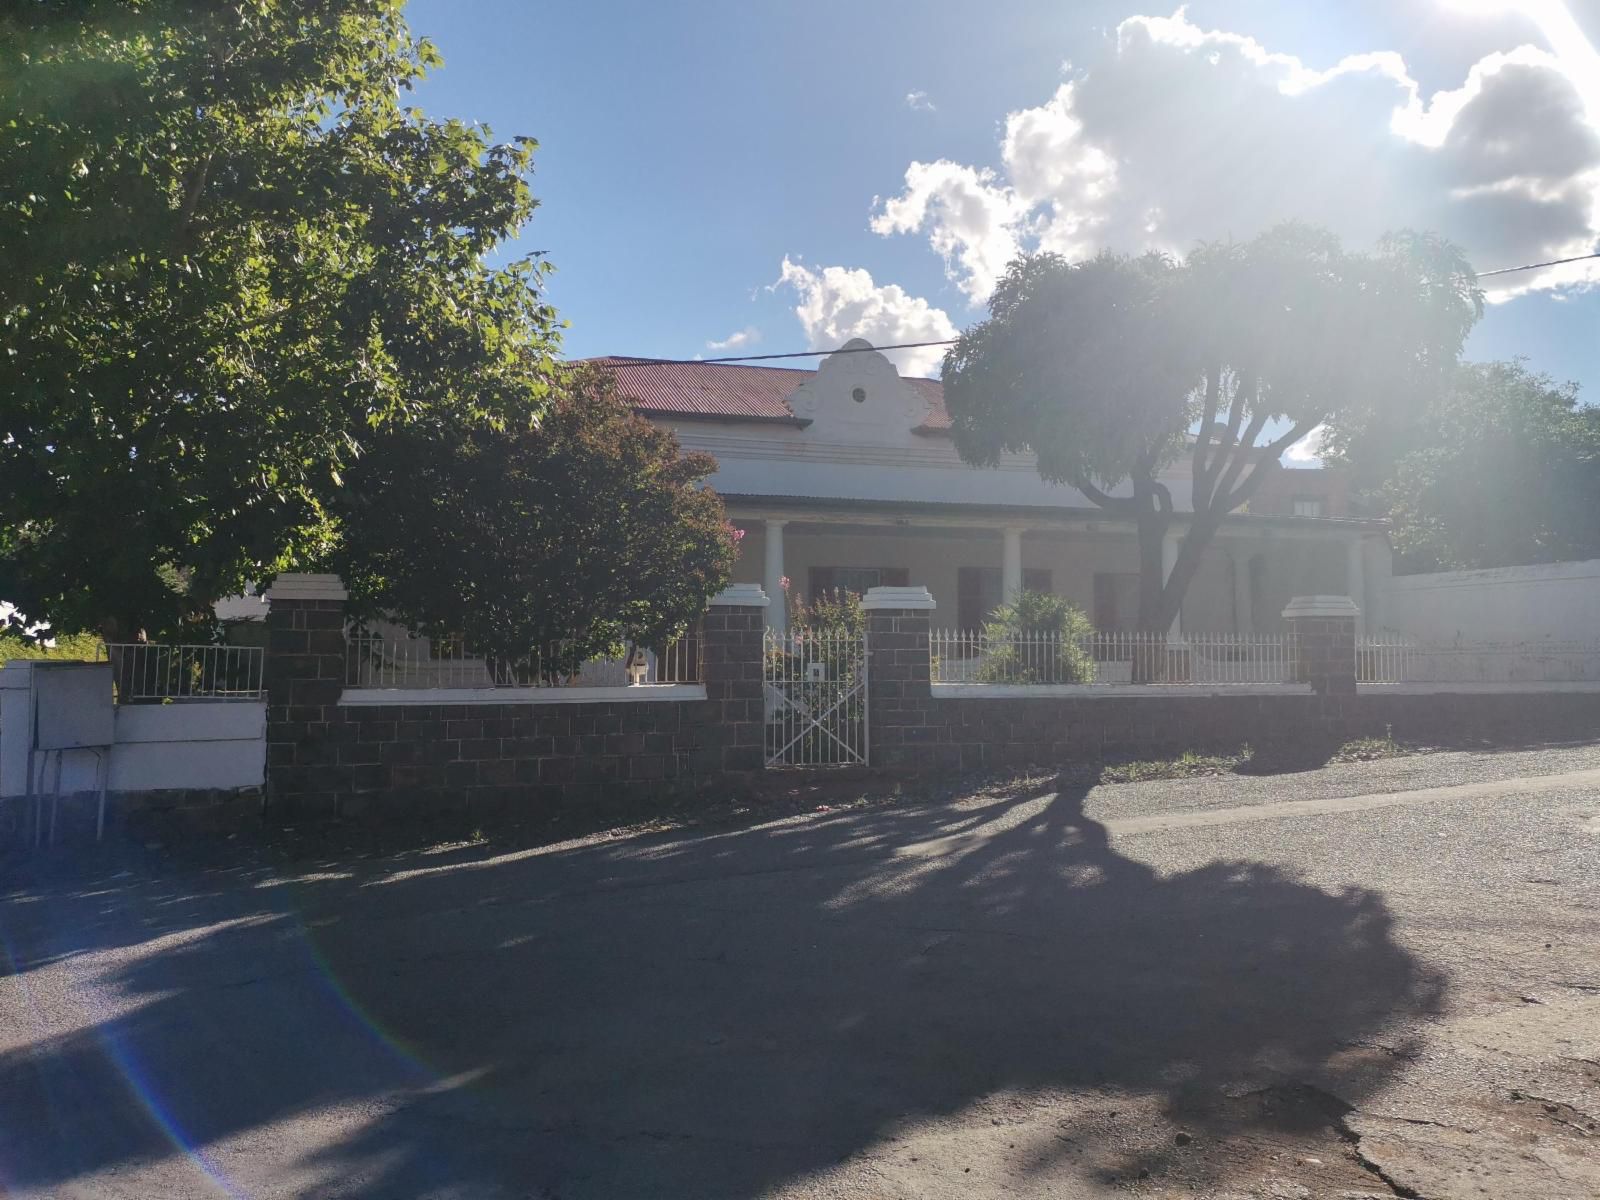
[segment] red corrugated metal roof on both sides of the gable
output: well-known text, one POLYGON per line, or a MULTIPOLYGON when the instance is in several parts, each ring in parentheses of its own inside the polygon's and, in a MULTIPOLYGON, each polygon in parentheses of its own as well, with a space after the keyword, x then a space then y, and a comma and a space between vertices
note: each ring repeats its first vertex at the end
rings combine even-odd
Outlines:
MULTIPOLYGON (((730 421, 794 418, 789 395, 816 371, 742 363, 685 363, 659 358, 590 358, 616 376, 618 390, 642 413, 709 416, 730 421)), ((923 429, 949 429, 938 379, 907 379, 928 402, 923 429)))

